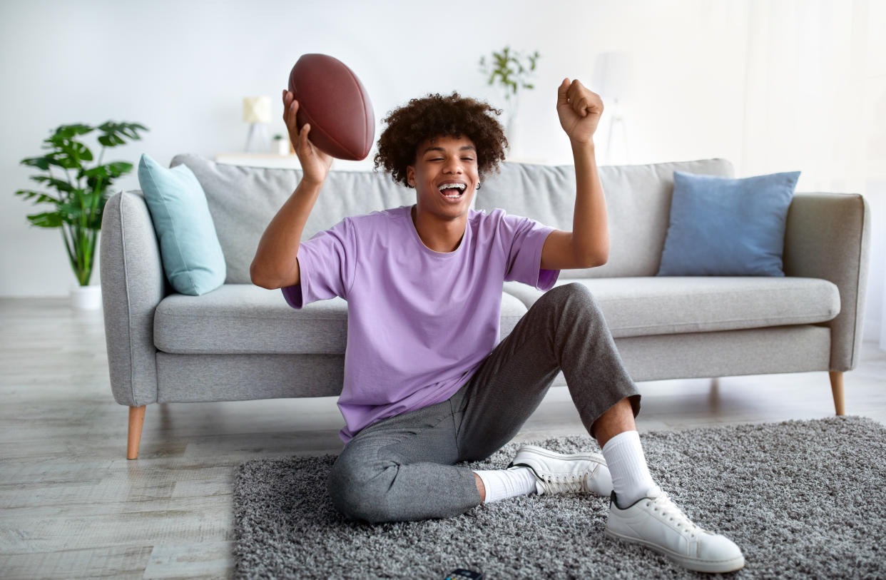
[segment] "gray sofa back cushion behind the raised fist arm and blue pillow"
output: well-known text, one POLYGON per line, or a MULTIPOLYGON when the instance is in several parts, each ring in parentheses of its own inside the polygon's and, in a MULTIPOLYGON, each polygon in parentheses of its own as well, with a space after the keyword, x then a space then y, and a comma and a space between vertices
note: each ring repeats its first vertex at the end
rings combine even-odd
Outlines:
MULTIPOLYGON (((670 221, 673 172, 732 177, 727 159, 702 159, 636 166, 601 166, 600 181, 609 218, 610 256, 601 266, 563 270, 560 278, 654 276, 670 221)), ((508 213, 571 231, 575 210, 575 167, 505 163, 477 192, 477 209, 508 213)))

